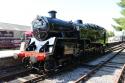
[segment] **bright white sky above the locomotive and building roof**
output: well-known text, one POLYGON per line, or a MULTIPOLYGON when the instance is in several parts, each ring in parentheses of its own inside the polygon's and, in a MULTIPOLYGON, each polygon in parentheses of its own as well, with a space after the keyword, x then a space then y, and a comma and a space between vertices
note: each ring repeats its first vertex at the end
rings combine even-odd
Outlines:
POLYGON ((56 10, 57 18, 66 21, 82 19, 112 31, 112 18, 120 17, 120 0, 0 0, 0 22, 31 26, 37 15, 49 16, 56 10))

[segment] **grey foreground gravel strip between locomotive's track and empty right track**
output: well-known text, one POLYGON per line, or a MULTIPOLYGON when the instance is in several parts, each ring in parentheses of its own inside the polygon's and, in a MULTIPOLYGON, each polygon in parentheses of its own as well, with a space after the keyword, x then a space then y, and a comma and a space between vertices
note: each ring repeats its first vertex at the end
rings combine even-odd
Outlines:
POLYGON ((61 75, 45 79, 44 81, 39 83, 72 83, 73 80, 77 80, 80 76, 89 71, 90 70, 88 68, 77 68, 70 72, 65 72, 61 75))

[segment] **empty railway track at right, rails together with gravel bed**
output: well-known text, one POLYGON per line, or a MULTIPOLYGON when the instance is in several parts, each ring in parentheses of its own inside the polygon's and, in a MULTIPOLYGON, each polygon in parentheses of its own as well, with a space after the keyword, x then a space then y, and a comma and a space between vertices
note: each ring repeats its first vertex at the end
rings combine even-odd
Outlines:
MULTIPOLYGON (((125 52, 125 49, 123 48, 122 50, 118 51, 115 55, 110 57, 109 59, 102 61, 99 63, 94 69, 92 69, 90 72, 87 74, 81 76, 78 78, 74 83, 119 83, 122 78, 123 79, 123 72, 125 71, 125 55, 121 54, 121 52, 125 52), (108 73, 113 73, 115 70, 119 70, 120 73, 114 78, 115 81, 107 80, 108 73), (107 74, 107 77, 101 78, 101 76, 107 74), (94 78, 95 77, 95 78, 94 78), (98 77, 98 78, 97 78, 98 77)), ((111 76, 110 76, 111 77, 111 76)), ((112 77, 113 79, 113 77, 112 77)), ((120 82, 123 83, 123 82, 120 82)))

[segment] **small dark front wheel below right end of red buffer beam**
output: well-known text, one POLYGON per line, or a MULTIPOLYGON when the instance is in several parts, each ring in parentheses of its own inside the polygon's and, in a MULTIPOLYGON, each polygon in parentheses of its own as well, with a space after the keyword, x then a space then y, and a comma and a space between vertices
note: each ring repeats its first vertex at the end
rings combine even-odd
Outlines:
POLYGON ((46 59, 44 62, 45 72, 52 72, 56 69, 56 61, 53 58, 46 59))

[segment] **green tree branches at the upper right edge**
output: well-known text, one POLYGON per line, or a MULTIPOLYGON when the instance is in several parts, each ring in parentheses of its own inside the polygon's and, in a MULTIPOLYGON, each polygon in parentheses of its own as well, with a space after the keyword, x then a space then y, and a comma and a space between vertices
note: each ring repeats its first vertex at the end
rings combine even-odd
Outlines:
POLYGON ((117 3, 121 8, 121 14, 122 17, 119 18, 113 18, 113 20, 118 24, 117 26, 112 25, 116 30, 125 30, 125 0, 121 0, 119 3, 117 3))

